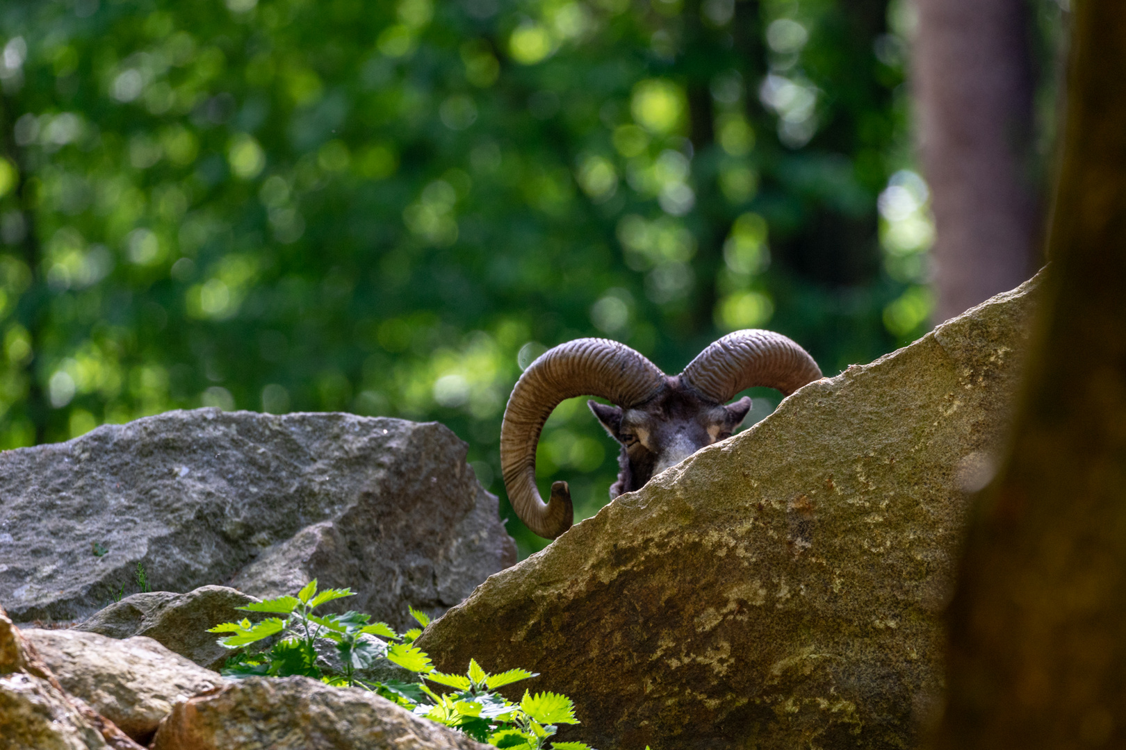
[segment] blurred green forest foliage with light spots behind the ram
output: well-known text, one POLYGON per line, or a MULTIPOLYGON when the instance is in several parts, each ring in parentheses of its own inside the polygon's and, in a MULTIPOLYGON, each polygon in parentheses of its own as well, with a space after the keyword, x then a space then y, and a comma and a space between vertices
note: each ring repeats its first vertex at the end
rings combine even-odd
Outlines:
MULTIPOLYGON (((501 413, 547 346, 678 372, 768 326, 828 374, 867 362, 930 311, 909 26, 885 0, 8 0, 0 446, 345 409, 449 425, 503 497, 501 413)), ((616 453, 565 403, 539 473, 588 516, 616 453)))

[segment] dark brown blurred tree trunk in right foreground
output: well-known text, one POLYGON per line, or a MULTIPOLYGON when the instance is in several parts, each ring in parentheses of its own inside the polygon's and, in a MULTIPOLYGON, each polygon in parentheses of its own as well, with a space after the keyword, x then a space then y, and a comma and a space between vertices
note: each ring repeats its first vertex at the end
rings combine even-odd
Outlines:
POLYGON ((1080 0, 1048 302, 949 608, 938 747, 1126 747, 1126 3, 1080 0))

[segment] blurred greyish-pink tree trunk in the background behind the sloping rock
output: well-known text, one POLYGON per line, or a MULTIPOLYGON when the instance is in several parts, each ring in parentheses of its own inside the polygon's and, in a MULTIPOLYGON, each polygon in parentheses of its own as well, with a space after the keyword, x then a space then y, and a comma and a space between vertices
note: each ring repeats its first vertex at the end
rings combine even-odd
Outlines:
POLYGON ((1012 289, 1033 251, 1027 0, 918 0, 912 87, 931 188, 937 320, 1012 289))

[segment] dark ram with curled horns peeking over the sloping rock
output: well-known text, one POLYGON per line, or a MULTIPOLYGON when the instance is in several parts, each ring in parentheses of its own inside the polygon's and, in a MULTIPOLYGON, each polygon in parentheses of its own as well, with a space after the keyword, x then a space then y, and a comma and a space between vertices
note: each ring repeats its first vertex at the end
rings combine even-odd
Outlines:
POLYGON ((536 489, 536 445, 560 401, 590 400, 598 421, 618 443, 622 469, 610 497, 641 489, 653 476, 705 445, 730 437, 751 399, 730 398, 767 386, 785 396, 821 378, 813 358, 794 341, 769 331, 736 331, 714 342, 683 372, 669 377, 625 344, 579 338, 548 350, 528 365, 508 399, 500 463, 512 509, 536 534, 555 539, 574 521, 565 481, 552 485, 548 503, 536 489))

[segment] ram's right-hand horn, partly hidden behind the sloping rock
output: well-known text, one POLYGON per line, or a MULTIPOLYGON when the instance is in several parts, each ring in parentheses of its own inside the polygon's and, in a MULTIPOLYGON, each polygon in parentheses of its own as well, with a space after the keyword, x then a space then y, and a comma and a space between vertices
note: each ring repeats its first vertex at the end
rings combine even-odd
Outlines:
POLYGON ((720 404, 753 386, 789 396, 821 378, 810 353, 780 333, 749 328, 729 333, 688 363, 680 379, 720 404))

